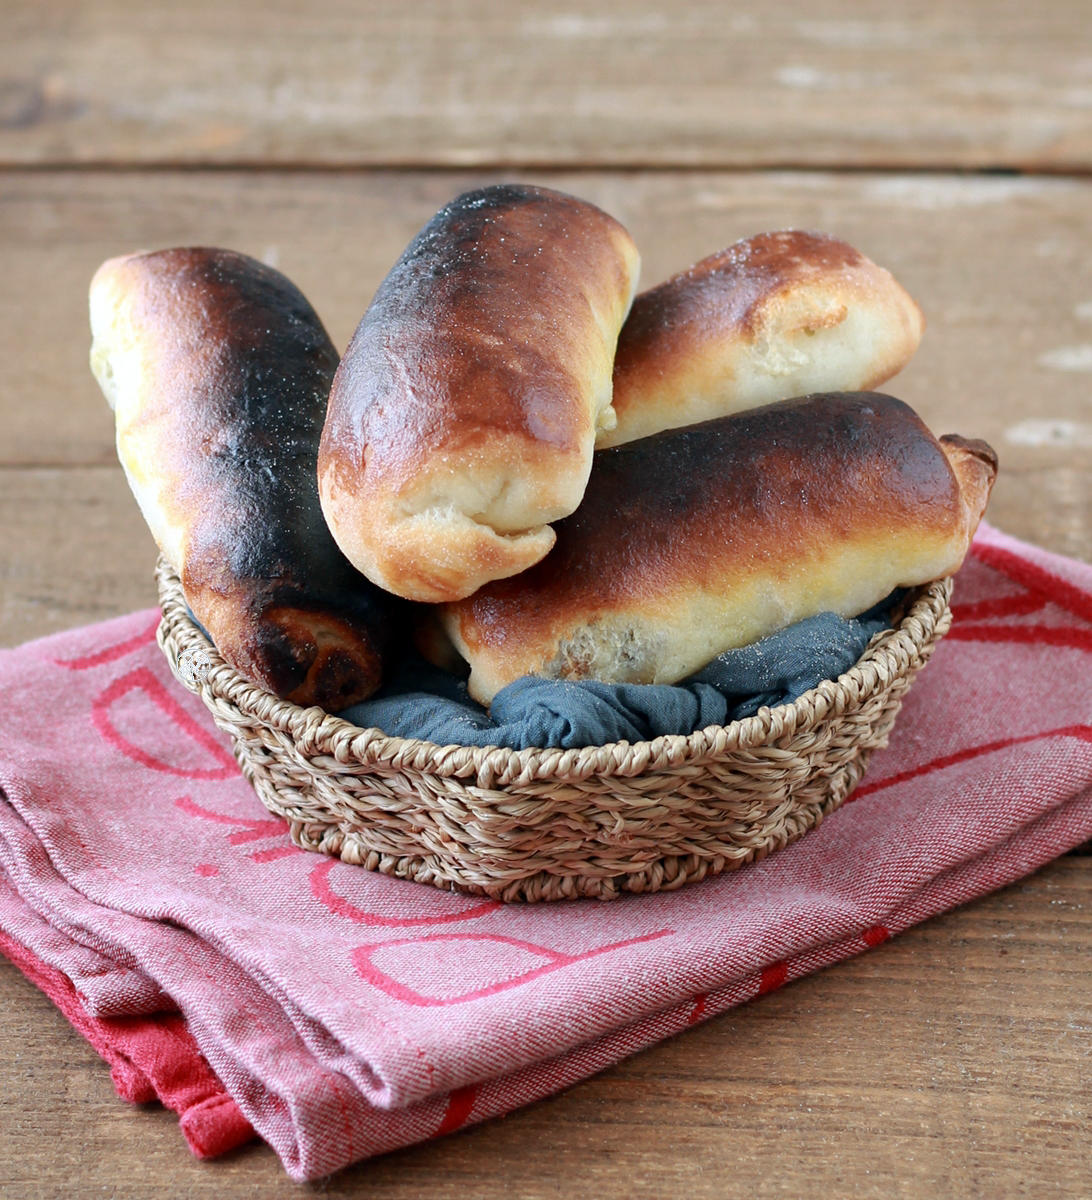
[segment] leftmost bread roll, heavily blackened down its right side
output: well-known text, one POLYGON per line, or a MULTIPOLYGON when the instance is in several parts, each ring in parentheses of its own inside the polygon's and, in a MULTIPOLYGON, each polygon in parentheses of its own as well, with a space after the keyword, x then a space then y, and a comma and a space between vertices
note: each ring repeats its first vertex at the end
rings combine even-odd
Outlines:
POLYGON ((118 456, 220 653, 298 704, 370 696, 401 606, 323 520, 337 352, 302 293, 242 254, 180 248, 103 263, 90 308, 118 456))

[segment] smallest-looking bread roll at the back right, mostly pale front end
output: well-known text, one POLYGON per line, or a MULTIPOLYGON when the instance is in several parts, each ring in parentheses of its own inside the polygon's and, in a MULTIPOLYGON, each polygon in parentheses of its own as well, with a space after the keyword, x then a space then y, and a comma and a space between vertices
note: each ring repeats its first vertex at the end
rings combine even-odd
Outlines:
POLYGON ((736 242, 634 301, 618 340, 618 422, 600 446, 820 391, 871 391, 924 318, 894 276, 829 234, 736 242))

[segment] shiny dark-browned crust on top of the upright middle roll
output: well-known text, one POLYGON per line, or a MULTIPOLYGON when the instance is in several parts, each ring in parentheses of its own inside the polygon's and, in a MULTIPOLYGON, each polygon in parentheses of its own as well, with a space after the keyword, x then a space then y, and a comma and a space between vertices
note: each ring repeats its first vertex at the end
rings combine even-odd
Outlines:
POLYGON ((560 192, 467 192, 420 230, 380 283, 337 370, 319 461, 409 478, 464 426, 577 452, 583 379, 559 355, 582 276, 618 270, 622 227, 560 192), (412 394, 407 404, 406 394, 412 394))

